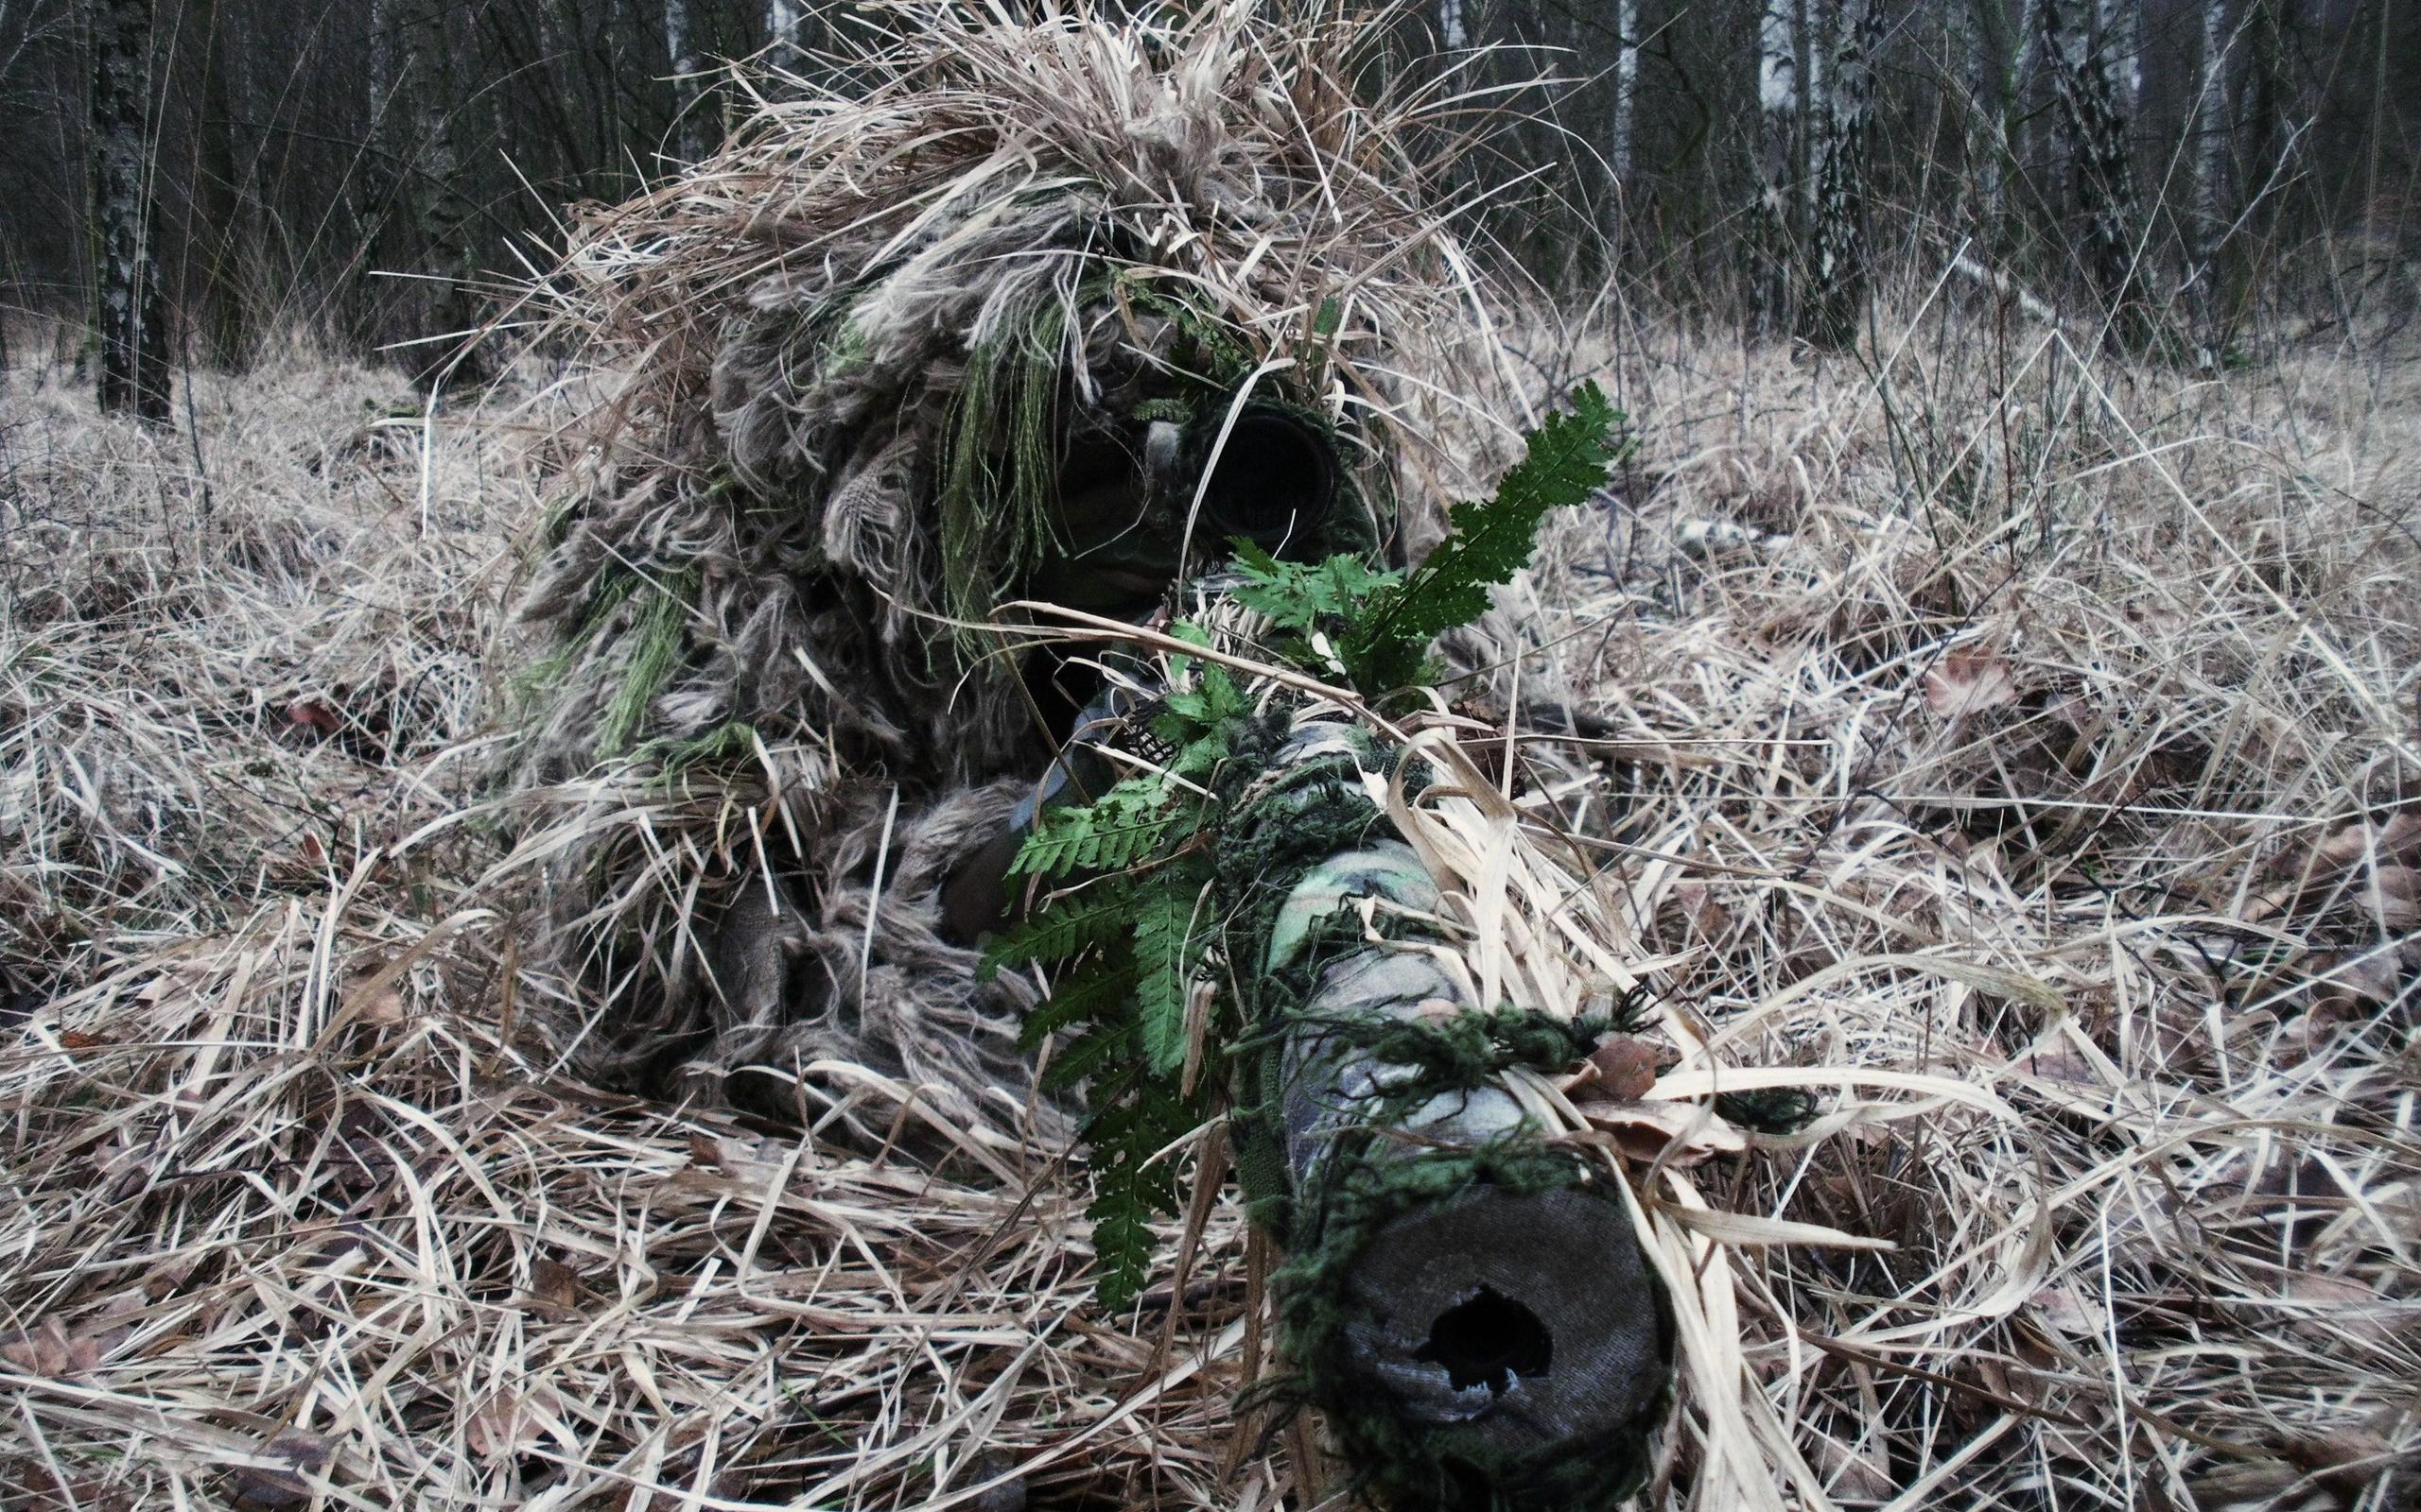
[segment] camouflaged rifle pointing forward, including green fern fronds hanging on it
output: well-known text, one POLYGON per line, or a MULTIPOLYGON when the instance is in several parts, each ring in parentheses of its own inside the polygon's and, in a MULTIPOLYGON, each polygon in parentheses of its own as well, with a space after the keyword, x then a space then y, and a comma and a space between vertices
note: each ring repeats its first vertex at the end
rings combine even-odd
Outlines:
POLYGON ((1670 1401, 1673 1316, 1552 1077, 1634 1026, 1620 929, 1453 719, 1317 675, 1348 670, 1307 634, 1334 617, 1290 622, 1273 588, 1302 569, 1252 561, 1167 629, 1022 605, 1106 646, 1104 692, 947 907, 1022 888, 990 958, 1058 965, 1031 1043, 1085 1026, 1046 1081, 1089 1081, 1106 1299, 1140 1285, 1148 1207, 1174 1212, 1152 1161, 1215 1089, 1288 1256, 1286 1391, 1363 1488, 1612 1507, 1670 1401))

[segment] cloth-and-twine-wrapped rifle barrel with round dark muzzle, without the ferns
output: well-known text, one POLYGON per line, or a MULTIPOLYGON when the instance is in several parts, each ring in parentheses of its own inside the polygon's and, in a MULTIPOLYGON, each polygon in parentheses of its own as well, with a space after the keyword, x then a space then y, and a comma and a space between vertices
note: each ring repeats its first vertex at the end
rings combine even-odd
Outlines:
MULTIPOLYGON (((1196 619, 1252 648, 1252 614, 1196 619)), ((1097 706, 1070 769, 1150 760, 1160 692, 1143 675, 1114 699, 1133 714, 1097 706)), ((1230 999, 1235 1164, 1288 1256, 1290 1391, 1385 1505, 1612 1507, 1670 1403, 1673 1323, 1620 1171, 1537 1084, 1629 1028, 1624 999, 1484 997, 1448 895, 1470 878, 1440 881, 1390 818, 1450 779, 1356 706, 1276 685, 1252 702, 1210 781, 1201 980, 1230 999)))

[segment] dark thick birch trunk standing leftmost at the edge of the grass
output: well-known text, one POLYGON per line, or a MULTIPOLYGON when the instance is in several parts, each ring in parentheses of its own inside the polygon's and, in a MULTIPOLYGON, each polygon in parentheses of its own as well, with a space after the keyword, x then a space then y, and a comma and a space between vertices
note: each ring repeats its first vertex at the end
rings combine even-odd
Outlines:
POLYGON ((150 0, 92 7, 92 225, 107 414, 169 419, 167 290, 150 196, 150 0))

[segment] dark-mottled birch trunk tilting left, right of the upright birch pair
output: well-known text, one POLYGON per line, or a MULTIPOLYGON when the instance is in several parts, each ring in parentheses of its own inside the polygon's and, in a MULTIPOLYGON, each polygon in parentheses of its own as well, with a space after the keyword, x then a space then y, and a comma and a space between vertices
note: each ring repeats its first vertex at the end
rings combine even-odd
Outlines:
MULTIPOLYGON (((2104 0, 2109 2, 2109 0, 2104 0)), ((2084 198, 2084 276, 2106 310, 2104 341, 2140 351, 2152 322, 2135 269, 2135 165, 2128 148, 2126 82, 2111 48, 2094 46, 2082 2, 2043 0, 2043 56, 2053 60, 2060 116, 2084 198)))

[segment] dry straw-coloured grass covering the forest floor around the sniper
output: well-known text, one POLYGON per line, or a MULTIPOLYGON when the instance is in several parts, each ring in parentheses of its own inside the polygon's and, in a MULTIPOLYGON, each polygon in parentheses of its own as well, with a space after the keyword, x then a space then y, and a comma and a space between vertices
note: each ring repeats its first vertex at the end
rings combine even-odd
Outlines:
MULTIPOLYGON (((1830 1089, 1700 1185, 1896 1246, 1726 1246, 1649 1505, 2411 1505, 2421 363, 1876 346, 1540 375, 1641 435, 1528 588, 1617 731, 1578 823, 1658 989, 1830 1089)), ((63 380, 0 387, 0 1507, 1341 1488, 1237 1406, 1232 1205, 1102 1316, 1027 1130, 559 1072, 484 881, 516 423, 303 346, 160 435, 63 380)))

